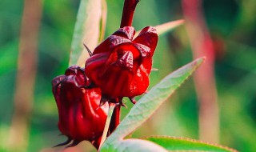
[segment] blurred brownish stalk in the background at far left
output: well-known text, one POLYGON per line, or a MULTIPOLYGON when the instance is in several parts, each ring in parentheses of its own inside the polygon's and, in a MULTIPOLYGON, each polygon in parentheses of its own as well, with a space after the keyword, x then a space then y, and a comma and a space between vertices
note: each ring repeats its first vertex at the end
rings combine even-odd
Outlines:
POLYGON ((26 151, 30 115, 34 101, 34 81, 38 62, 38 30, 42 16, 41 0, 25 0, 18 52, 14 93, 14 114, 8 137, 8 151, 26 151))

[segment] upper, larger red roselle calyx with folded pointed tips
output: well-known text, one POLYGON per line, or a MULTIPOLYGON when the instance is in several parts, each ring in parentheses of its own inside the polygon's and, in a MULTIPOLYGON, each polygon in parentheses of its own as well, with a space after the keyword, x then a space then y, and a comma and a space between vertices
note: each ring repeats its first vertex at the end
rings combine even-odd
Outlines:
POLYGON ((86 61, 86 75, 110 98, 133 98, 149 86, 158 34, 151 26, 145 27, 137 38, 134 34, 132 26, 120 28, 86 61))

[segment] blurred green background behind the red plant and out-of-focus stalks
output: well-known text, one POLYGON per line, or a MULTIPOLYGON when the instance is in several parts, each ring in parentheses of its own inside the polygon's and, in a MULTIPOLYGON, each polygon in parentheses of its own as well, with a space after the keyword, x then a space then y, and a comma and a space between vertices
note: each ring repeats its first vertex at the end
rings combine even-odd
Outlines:
MULTIPOLYGON (((106 36, 118 29, 123 1, 106 0, 106 36)), ((198 1, 195 1, 198 2, 198 1)), ((0 1, 0 151, 7 151, 14 119, 14 94, 23 1, 0 1)), ((79 0, 44 0, 38 29, 38 53, 32 112, 26 151, 54 151, 63 142, 58 136, 58 110, 51 80, 66 70, 79 0)), ((33 7, 33 5, 31 6, 33 7)), ((254 0, 202 1, 202 19, 214 44, 214 79, 218 93, 219 143, 240 151, 256 150, 256 2, 254 0)), ((184 18, 178 0, 142 0, 134 14, 135 29, 184 18)), ((154 55, 151 86, 178 67, 193 60, 186 26, 162 34, 154 55)), ((19 81, 21 81, 20 78, 19 81)), ((206 85, 207 86, 207 85, 206 85)), ((27 88, 24 86, 26 92, 27 88)), ((200 104, 190 78, 133 137, 170 135, 198 139, 200 104)), ((128 101, 128 100, 127 100, 128 101)), ((26 106, 26 105, 21 105, 26 106)), ((122 109, 122 118, 132 105, 122 109)), ((15 134, 14 137, 20 134, 15 134)), ((70 151, 93 150, 89 143, 70 151), (88 148, 89 147, 89 148, 88 148)))

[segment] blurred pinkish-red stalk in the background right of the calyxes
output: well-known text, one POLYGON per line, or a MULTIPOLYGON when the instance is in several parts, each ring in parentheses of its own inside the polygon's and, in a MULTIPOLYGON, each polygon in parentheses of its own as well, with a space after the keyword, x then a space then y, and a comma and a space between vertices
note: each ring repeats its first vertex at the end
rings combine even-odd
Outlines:
POLYGON ((202 0, 182 0, 194 58, 206 56, 206 62, 194 74, 199 102, 199 136, 206 142, 219 141, 218 94, 214 78, 214 44, 202 14, 202 0))

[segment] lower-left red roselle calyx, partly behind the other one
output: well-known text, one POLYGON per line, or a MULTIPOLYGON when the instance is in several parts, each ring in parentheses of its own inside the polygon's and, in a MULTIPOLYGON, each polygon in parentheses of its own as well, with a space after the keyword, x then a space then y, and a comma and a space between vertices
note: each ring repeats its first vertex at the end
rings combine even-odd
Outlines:
POLYGON ((52 81, 53 94, 58 106, 58 128, 68 137, 66 142, 75 146, 83 140, 90 141, 98 148, 104 130, 108 104, 99 106, 102 95, 99 88, 85 89, 90 84, 84 70, 70 66, 65 75, 52 81))

